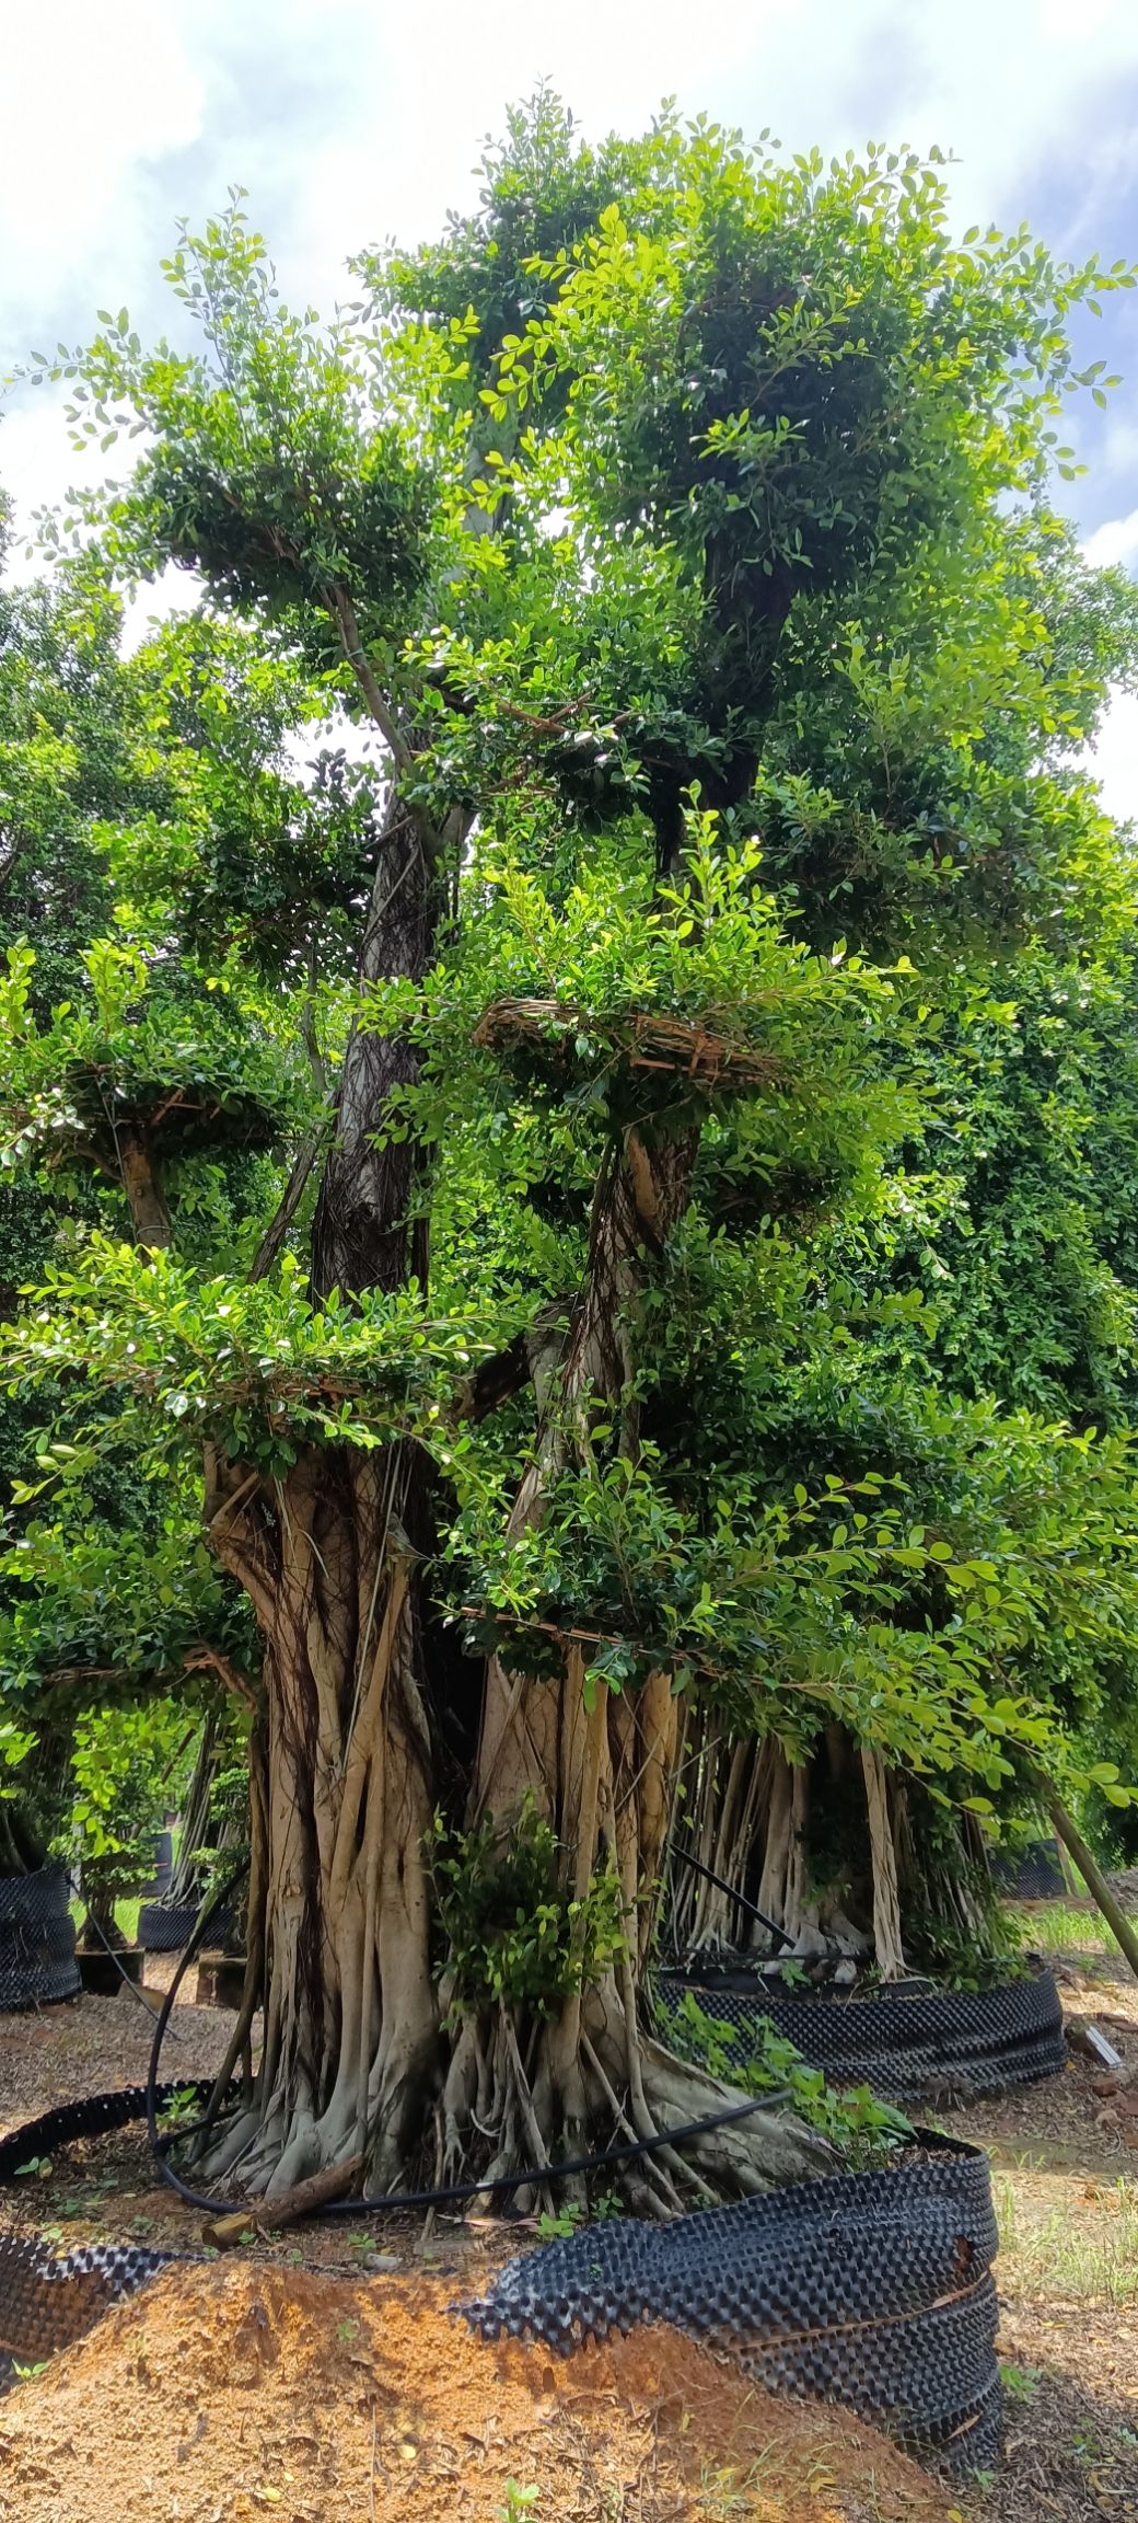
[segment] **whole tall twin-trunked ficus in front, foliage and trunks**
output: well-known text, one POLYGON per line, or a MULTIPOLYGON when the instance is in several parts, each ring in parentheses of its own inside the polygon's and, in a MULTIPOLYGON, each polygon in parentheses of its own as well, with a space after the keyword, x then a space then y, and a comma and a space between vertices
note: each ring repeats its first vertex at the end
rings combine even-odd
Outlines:
MULTIPOLYGON (((911 156, 782 167, 671 119, 593 154, 548 98, 479 212, 363 255, 331 325, 280 305, 240 202, 167 270, 179 343, 121 313, 63 363, 81 442, 144 452, 48 540, 192 568, 386 782, 308 1234, 293 1168, 260 1274, 93 1236, 10 1342, 28 1383, 114 1393, 151 1466, 204 1461, 260 1632, 232 2059, 257 2003, 262 2051, 209 2165, 283 2190, 363 2155, 391 2187, 434 2122, 439 2167, 490 2180, 633 2129, 646 2205, 749 2187, 812 2162, 807 2132, 757 2114, 684 2160, 669 2132, 722 2092, 646 2018, 689 1711, 845 1726, 984 1804, 1057 1756, 1045 1637, 1093 1655, 1133 1610, 1125 1461, 1108 1526, 1090 1441, 1047 1441, 1047 1499, 1037 1431, 941 1431, 924 1491, 865 1425, 797 1484, 747 1463, 782 1373, 765 1287, 802 1314, 812 1226, 881 1206, 921 1130, 956 969, 979 956, 984 999, 994 928, 1077 881, 1080 802, 999 759, 1047 684, 1004 520, 1037 512, 1077 383, 1065 315, 1113 280, 954 245, 911 156), (939 805, 888 744, 845 797, 818 659, 863 739, 876 694, 939 749, 939 805), (865 956, 833 921, 858 878, 865 956), (712 1410, 676 1322, 714 1304, 724 1209, 747 1267, 737 1322, 704 1317, 737 1367, 712 1410), (977 1446, 1014 1491, 992 1554, 977 1446)), ((1098 656, 1050 671, 1067 727, 1098 656)), ((237 954, 260 969, 250 928, 237 954)))

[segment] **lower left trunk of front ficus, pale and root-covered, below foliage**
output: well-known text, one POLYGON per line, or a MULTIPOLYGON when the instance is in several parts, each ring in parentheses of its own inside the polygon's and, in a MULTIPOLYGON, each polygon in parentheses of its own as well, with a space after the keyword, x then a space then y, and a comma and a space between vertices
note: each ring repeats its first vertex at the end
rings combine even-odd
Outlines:
POLYGON ((411 1448, 310 1453, 273 1504, 214 1511, 265 1630, 247 1963, 262 2059, 214 2157, 247 2190, 356 2152, 376 2187, 399 2182, 437 2089, 421 1519, 411 1448))

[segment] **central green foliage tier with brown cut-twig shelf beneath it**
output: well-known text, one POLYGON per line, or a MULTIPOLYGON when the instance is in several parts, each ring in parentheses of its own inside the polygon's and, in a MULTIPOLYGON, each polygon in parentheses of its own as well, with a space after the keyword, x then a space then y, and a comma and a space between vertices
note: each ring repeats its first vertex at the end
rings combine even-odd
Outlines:
POLYGON ((797 1148, 833 1125, 840 1072, 855 1072, 876 1002, 893 994, 858 956, 823 961, 787 939, 757 843, 734 848, 714 815, 689 815, 674 883, 656 883, 643 853, 621 863, 603 850, 550 898, 525 865, 490 853, 469 891, 479 918, 467 956, 429 974, 421 997, 376 986, 366 1007, 366 1024, 386 1032, 404 1017, 421 1042, 426 1082, 394 1113, 424 1135, 442 1135, 457 1098, 472 1110, 495 1095, 474 1042, 578 1133, 656 1123, 679 1138, 719 1103, 765 1090, 780 1140, 797 1148))

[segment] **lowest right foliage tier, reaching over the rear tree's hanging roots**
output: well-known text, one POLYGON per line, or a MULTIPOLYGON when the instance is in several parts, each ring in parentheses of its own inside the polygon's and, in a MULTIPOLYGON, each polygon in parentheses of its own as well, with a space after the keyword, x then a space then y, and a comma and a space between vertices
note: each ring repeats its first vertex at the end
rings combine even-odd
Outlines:
POLYGON ((873 1471, 762 1499, 732 1468, 704 1519, 648 1446, 638 1466, 565 1471, 522 1534, 502 1537, 490 1491, 457 1529, 467 1602, 490 1607, 472 1635, 530 1668, 578 1635, 608 1688, 671 1668, 739 1731, 873 1723, 903 1766, 971 1774, 964 1801, 992 1812, 1017 1756, 1065 1759, 1047 1675, 1123 1653, 1138 1529, 1125 1448, 994 1418, 971 1420, 969 1443, 971 1481, 954 1456, 936 1526, 873 1471))

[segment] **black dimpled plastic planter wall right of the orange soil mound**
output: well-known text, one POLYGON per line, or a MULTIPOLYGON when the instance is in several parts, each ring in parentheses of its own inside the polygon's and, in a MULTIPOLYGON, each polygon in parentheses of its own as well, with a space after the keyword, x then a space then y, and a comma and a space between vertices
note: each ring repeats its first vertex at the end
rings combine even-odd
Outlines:
POLYGON ((464 2306, 484 2339, 671 2321, 754 2382, 828 2399, 908 2452, 974 2470, 999 2450, 997 2223, 979 2150, 929 2137, 891 2172, 797 2182, 737 2208, 588 2225, 527 2251, 464 2306))

